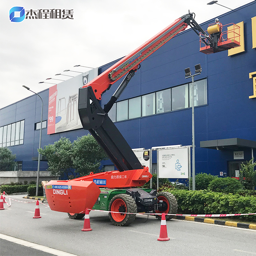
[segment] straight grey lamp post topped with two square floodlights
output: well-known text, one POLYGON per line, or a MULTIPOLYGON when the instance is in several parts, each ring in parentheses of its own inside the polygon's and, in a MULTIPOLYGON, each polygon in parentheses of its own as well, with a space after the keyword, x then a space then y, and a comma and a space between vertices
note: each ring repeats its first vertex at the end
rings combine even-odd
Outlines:
POLYGON ((185 69, 185 78, 192 77, 192 189, 196 190, 196 181, 195 181, 195 113, 194 113, 194 76, 200 75, 202 72, 201 65, 195 65, 196 73, 191 75, 190 68, 185 69))

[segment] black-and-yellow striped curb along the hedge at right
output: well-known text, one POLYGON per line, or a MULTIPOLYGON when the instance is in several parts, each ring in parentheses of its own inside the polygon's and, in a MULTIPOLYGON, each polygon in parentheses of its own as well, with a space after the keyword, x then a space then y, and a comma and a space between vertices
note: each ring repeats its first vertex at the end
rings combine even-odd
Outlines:
POLYGON ((222 221, 220 219, 210 219, 210 218, 202 218, 202 217, 192 217, 192 216, 174 216, 174 219, 182 219, 184 221, 196 221, 210 224, 217 224, 222 226, 230 226, 236 228, 248 228, 256 230, 256 224, 248 224, 248 223, 240 223, 240 222, 232 222, 232 221, 222 221))

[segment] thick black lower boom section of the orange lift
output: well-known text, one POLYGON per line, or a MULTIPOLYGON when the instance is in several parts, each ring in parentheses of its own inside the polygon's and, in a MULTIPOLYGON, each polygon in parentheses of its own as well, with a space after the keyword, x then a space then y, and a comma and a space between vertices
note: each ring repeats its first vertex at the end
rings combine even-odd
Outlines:
POLYGON ((89 130, 119 171, 142 169, 129 144, 101 108, 91 86, 79 89, 78 111, 84 129, 89 130))

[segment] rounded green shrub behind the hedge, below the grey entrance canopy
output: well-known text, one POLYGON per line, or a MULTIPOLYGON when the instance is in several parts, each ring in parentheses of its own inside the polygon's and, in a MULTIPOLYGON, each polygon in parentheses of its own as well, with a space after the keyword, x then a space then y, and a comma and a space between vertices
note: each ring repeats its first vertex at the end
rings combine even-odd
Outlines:
POLYGON ((225 178, 215 178, 213 179, 208 189, 214 192, 222 192, 222 193, 236 193, 236 191, 242 189, 242 185, 239 180, 225 177, 225 178))

